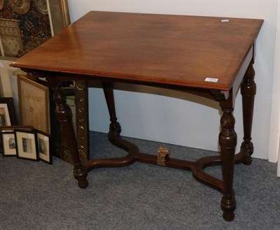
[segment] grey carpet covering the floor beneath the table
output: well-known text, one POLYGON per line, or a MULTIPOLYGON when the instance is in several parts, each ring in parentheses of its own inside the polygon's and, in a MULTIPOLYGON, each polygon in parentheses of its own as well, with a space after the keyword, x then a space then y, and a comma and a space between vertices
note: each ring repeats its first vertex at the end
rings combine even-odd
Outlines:
MULTIPOLYGON (((141 152, 160 143, 128 138, 141 152)), ((214 152, 165 145, 172 157, 197 159, 214 152)), ((90 132, 92 157, 124 154, 106 134, 90 132)), ((280 178, 276 164, 253 159, 235 167, 235 220, 225 222, 221 193, 189 171, 135 163, 99 168, 79 189, 73 168, 54 158, 50 166, 0 156, 0 229, 280 229, 280 178)), ((207 169, 220 175, 220 167, 207 169)))

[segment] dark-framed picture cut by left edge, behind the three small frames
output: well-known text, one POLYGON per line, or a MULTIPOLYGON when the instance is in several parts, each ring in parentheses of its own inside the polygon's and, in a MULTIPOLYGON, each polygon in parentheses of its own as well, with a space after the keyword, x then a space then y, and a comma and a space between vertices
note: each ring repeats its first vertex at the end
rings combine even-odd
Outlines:
POLYGON ((13 98, 0 98, 0 127, 15 125, 15 110, 13 108, 13 98))

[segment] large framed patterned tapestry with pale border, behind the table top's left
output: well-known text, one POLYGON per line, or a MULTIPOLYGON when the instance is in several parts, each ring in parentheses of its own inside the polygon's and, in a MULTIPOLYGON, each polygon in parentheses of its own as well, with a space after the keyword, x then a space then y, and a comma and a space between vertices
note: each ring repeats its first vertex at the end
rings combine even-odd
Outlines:
POLYGON ((1 56, 20 57, 69 24, 66 0, 1 0, 1 56))

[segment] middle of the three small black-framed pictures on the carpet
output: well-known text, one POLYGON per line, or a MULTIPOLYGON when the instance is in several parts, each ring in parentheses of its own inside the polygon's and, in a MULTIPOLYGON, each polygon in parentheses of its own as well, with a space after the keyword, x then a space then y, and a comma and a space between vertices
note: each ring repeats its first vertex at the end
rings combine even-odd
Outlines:
POLYGON ((15 129, 15 143, 18 158, 38 161, 35 131, 15 129))

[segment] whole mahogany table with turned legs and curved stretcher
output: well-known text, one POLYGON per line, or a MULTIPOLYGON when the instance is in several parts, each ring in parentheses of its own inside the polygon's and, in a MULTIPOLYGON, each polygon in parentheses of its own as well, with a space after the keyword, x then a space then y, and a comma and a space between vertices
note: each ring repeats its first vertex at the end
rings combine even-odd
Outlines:
POLYGON ((232 187, 235 164, 251 164, 251 129, 256 91, 253 62, 255 41, 263 20, 154 15, 91 11, 43 45, 17 59, 11 66, 45 77, 54 89, 57 120, 69 140, 78 186, 88 185, 87 173, 94 168, 118 167, 140 161, 181 168, 223 194, 223 218, 234 219, 235 192, 232 187), (67 80, 101 80, 109 108, 109 140, 127 151, 125 157, 79 159, 71 110, 62 92, 67 80), (160 149, 158 156, 139 152, 123 140, 113 98, 113 82, 151 85, 181 90, 218 101, 223 111, 218 136, 221 156, 183 161, 160 149), (241 87, 244 141, 235 154, 237 134, 235 106, 241 87), (221 164, 222 180, 203 171, 221 164))

